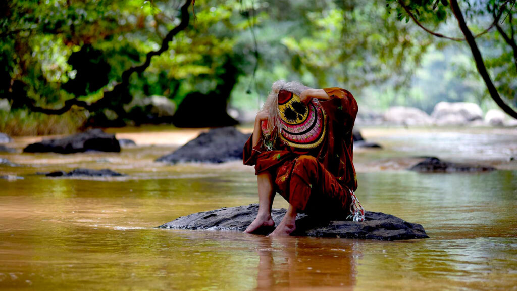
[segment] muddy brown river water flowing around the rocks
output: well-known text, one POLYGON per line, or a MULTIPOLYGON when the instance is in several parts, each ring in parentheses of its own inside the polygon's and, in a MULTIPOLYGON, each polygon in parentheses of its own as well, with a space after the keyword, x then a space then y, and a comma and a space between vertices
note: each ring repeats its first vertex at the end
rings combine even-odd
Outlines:
MULTIPOLYGON (((245 128, 248 132, 249 128, 245 128)), ((365 209, 420 223, 430 239, 270 239, 157 229, 181 215, 257 201, 252 167, 154 162, 199 130, 109 130, 121 153, 0 154, 1 290, 517 290, 517 130, 363 128, 355 152, 365 209), (418 156, 500 169, 416 173, 418 156), (123 178, 40 171, 110 168, 123 178)), ((23 148, 39 138, 16 138, 23 148)), ((274 207, 286 207, 279 196, 274 207)))

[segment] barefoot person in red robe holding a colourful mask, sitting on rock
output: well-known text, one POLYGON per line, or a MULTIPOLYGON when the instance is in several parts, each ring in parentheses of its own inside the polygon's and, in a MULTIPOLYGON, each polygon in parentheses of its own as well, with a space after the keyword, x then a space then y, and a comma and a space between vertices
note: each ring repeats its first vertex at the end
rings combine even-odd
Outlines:
POLYGON ((352 129, 357 102, 340 88, 311 89, 299 82, 273 83, 255 127, 244 146, 244 164, 254 165, 258 214, 244 231, 273 227, 276 193, 288 202, 287 213, 270 236, 290 235, 297 213, 318 219, 363 221, 354 191, 352 129))

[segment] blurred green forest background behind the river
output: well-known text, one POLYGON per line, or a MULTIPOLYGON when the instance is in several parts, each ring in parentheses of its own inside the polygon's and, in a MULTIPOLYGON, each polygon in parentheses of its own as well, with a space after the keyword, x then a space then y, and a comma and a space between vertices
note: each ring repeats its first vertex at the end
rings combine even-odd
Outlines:
MULTIPOLYGON (((446 1, 406 3, 433 31, 463 37, 446 1)), ((473 34, 494 22, 494 7, 502 4, 460 2, 473 34)), ((506 4, 499 27, 476 42, 499 94, 515 109, 517 46, 498 28, 515 44, 517 8, 506 4)), ((93 103, 113 91, 123 72, 142 64, 180 23, 181 5, 2 2, 0 132, 46 135, 147 123, 199 127, 207 126, 206 118, 213 126, 232 124, 233 118, 246 122, 277 79, 345 88, 358 99, 360 114, 392 106, 430 114, 439 101, 472 102, 484 112, 497 108, 466 42, 424 32, 397 1, 198 0, 189 6, 185 30, 149 67, 130 75, 127 92, 96 108, 34 112, 60 108, 68 99, 93 103)))

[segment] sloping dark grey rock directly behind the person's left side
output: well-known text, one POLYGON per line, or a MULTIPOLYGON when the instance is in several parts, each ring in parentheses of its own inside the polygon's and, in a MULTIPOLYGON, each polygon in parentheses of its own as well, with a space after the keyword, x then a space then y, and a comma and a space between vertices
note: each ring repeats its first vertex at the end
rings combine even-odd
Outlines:
POLYGON ((249 135, 235 127, 210 129, 171 154, 158 158, 158 162, 207 162, 223 163, 242 159, 242 149, 249 135))

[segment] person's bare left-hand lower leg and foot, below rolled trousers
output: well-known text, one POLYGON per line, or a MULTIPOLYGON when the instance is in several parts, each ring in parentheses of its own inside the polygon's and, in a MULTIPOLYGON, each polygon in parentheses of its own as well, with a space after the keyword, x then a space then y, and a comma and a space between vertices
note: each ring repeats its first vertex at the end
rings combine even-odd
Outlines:
POLYGON ((273 198, 275 197, 271 173, 264 171, 258 174, 257 184, 258 213, 256 219, 244 231, 245 234, 251 234, 263 226, 275 226, 275 222, 271 219, 271 207, 273 206, 273 198))

